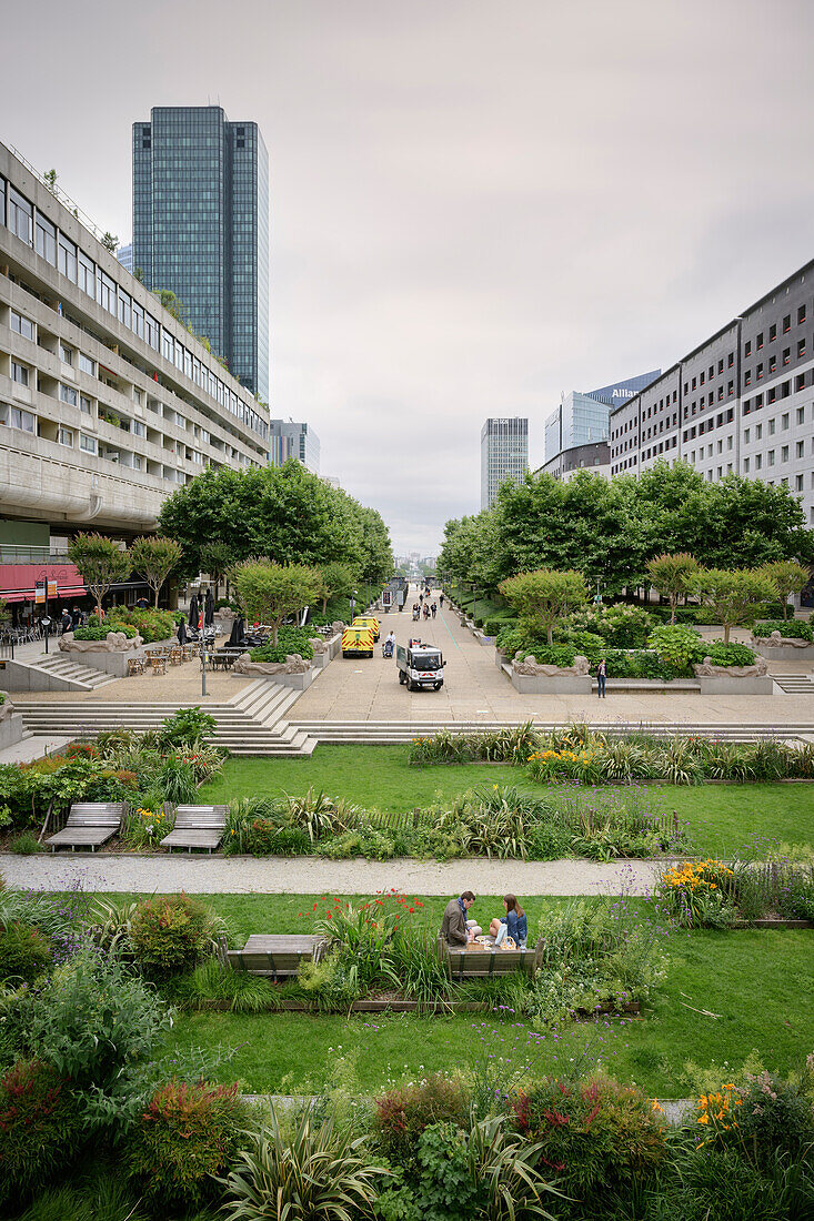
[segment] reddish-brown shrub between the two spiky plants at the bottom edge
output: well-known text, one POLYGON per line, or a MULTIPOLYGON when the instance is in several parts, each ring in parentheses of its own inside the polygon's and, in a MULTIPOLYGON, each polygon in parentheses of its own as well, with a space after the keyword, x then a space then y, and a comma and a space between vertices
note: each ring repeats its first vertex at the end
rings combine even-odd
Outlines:
POLYGON ((392 1161, 413 1161, 418 1138, 433 1123, 468 1125, 469 1099, 462 1082, 434 1073, 417 1084, 398 1085, 376 1099, 373 1131, 392 1161))

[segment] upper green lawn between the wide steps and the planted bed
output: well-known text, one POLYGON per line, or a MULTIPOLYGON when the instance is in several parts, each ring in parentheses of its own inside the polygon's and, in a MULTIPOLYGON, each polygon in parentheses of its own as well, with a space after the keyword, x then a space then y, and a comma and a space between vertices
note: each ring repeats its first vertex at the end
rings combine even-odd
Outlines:
MULTIPOLYGON (((368 808, 391 812, 452 797, 479 784, 513 784, 541 792, 522 768, 455 764, 411 767, 407 746, 319 746, 310 758, 232 758, 200 790, 205 802, 233 797, 324 790, 368 808)), ((688 823, 695 852, 731 856, 757 838, 814 847, 814 785, 743 784, 684 789, 648 786, 653 801, 688 823)))

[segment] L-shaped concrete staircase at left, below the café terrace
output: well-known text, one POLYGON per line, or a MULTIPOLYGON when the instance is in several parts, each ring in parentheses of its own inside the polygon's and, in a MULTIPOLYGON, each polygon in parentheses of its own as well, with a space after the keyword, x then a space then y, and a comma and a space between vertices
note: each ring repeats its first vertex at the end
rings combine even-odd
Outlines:
MULTIPOLYGON (((225 746, 232 755, 263 757, 310 755, 317 741, 284 719, 287 708, 298 698, 299 691, 257 679, 249 683, 226 703, 205 703, 203 707, 215 718, 214 742, 225 746)), ((165 717, 178 708, 193 708, 189 703, 134 703, 83 700, 78 703, 42 703, 15 700, 26 728, 34 734, 64 734, 87 736, 109 729, 158 729, 165 717)))

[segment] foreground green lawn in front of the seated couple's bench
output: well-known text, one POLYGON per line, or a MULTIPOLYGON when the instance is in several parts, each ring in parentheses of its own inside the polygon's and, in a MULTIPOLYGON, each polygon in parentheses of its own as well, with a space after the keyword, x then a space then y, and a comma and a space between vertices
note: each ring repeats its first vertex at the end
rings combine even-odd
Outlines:
MULTIPOLYGON (((252 896, 230 897, 236 917, 242 912, 240 918, 253 922, 259 908, 252 896)), ((599 1057, 618 1079, 636 1081, 655 1096, 688 1092, 682 1079, 688 1060, 736 1067, 754 1048, 769 1068, 787 1072, 802 1063, 814 1046, 810 933, 680 934, 669 952, 669 977, 640 1017, 572 1024, 559 1038, 535 1034, 512 1015, 185 1013, 167 1046, 171 1053, 191 1044, 237 1049, 219 1076, 241 1078, 258 1093, 318 1089, 346 1056, 356 1061, 365 1092, 389 1078, 414 1079, 491 1055, 517 1065, 530 1057, 535 1072, 599 1057)))

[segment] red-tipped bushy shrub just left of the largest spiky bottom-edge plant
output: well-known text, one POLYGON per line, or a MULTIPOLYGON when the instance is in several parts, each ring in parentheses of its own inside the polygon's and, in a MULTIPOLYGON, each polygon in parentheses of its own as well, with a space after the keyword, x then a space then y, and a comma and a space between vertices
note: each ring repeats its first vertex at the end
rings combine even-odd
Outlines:
POLYGON ((220 1195, 240 1149, 248 1109, 237 1085, 170 1081, 155 1090, 128 1136, 127 1170, 155 1215, 192 1212, 220 1195))

